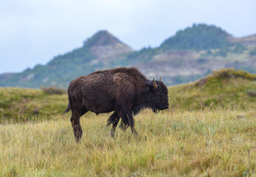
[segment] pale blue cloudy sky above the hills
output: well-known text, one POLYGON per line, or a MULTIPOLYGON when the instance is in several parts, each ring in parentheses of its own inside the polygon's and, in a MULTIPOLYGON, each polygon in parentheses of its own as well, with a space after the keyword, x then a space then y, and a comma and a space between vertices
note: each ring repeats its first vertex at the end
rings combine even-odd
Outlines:
POLYGON ((255 0, 0 0, 0 73, 22 72, 108 30, 139 50, 194 23, 256 33, 255 0))

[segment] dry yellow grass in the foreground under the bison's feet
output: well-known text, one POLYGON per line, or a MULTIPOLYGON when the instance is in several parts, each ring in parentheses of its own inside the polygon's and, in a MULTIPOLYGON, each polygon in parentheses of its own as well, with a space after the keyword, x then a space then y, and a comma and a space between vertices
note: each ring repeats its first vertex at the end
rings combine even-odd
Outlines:
POLYGON ((138 136, 106 127, 109 114, 0 125, 0 176, 256 176, 256 110, 145 110, 138 136))

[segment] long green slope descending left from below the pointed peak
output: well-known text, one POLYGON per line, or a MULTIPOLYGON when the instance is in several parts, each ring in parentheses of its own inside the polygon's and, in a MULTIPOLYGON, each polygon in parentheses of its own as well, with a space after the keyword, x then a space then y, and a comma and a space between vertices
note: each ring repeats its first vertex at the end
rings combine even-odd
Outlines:
POLYGON ((66 87, 70 80, 86 72, 93 72, 90 61, 94 58, 86 47, 58 55, 49 63, 37 65, 33 69, 2 78, 0 86, 40 88, 41 86, 66 87))

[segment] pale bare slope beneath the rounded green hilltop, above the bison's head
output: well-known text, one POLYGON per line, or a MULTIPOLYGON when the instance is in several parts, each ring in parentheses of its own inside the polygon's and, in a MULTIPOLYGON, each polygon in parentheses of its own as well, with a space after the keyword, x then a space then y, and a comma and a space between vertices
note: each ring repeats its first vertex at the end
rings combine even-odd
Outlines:
POLYGON ((136 65, 148 77, 175 77, 204 74, 208 70, 218 70, 225 63, 215 58, 198 63, 200 54, 193 51, 173 51, 155 55, 147 63, 136 65))

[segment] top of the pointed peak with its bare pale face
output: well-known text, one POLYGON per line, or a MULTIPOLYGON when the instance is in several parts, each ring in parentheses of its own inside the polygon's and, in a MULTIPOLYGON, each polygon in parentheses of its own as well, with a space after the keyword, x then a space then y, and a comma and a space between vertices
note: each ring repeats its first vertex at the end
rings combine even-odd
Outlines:
POLYGON ((119 55, 134 51, 107 31, 97 32, 85 45, 88 45, 90 52, 97 56, 97 61, 105 65, 111 60, 118 60, 119 55))

